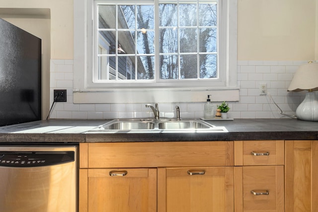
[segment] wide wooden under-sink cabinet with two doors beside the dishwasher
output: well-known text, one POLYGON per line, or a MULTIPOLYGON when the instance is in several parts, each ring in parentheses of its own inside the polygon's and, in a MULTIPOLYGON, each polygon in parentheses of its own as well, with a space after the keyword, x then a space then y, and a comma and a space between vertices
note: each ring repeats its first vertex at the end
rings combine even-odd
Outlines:
POLYGON ((79 148, 79 212, 234 211, 233 141, 79 148))

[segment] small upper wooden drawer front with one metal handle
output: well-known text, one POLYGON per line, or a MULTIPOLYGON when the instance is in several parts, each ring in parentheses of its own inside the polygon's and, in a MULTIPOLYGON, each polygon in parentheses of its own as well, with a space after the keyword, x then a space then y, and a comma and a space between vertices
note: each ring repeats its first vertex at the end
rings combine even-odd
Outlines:
POLYGON ((284 141, 235 141, 234 146, 236 166, 284 165, 284 141))

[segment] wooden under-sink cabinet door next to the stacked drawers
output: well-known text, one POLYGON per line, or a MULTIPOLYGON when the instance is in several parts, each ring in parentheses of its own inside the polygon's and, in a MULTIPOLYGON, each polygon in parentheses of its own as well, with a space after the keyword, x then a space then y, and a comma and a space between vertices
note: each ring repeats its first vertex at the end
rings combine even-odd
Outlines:
POLYGON ((233 212, 234 168, 158 169, 158 212, 233 212))

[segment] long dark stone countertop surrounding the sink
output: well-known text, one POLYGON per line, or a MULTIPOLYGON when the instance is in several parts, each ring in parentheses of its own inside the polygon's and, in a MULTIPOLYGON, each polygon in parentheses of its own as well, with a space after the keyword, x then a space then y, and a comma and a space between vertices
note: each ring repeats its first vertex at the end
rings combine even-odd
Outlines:
POLYGON ((208 121, 226 133, 85 133, 110 120, 43 120, 0 127, 0 142, 318 140, 318 122, 296 119, 208 121))

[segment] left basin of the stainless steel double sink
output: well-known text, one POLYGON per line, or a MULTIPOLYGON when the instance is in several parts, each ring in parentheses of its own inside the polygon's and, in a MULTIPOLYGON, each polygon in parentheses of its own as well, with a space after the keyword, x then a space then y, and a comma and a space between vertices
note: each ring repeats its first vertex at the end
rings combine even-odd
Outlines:
POLYGON ((151 130, 155 128, 154 122, 134 121, 134 120, 116 120, 112 123, 99 127, 99 130, 151 130))

